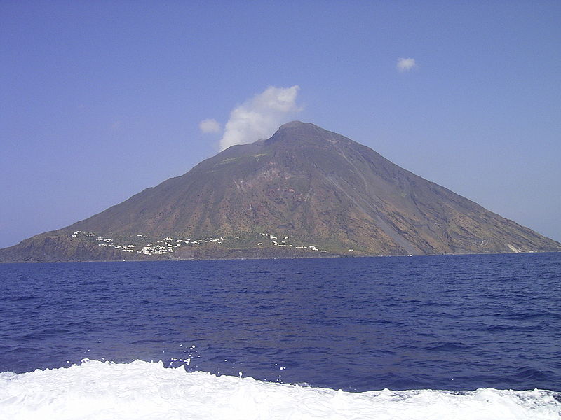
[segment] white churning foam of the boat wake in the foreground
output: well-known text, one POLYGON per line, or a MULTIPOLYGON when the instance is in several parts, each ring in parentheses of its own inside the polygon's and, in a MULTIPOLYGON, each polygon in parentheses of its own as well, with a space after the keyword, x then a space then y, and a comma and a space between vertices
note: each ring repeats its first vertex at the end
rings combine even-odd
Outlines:
POLYGON ((162 363, 0 374, 0 419, 556 419, 552 391, 349 393, 217 377, 162 363))

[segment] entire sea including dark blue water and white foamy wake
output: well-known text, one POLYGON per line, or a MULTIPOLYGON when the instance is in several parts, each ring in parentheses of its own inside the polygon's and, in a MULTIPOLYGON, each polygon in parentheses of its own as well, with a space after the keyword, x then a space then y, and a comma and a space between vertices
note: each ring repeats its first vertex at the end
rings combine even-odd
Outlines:
POLYGON ((561 419, 561 253, 0 265, 0 419, 561 419))

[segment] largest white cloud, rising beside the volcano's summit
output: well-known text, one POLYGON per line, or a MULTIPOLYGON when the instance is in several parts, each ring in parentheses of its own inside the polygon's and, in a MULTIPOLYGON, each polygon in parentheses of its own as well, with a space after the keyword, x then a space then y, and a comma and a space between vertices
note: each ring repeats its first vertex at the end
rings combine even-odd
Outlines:
POLYGON ((296 104, 299 86, 267 87, 263 92, 236 106, 220 140, 220 150, 234 144, 252 143, 270 137, 287 118, 300 111, 296 104))

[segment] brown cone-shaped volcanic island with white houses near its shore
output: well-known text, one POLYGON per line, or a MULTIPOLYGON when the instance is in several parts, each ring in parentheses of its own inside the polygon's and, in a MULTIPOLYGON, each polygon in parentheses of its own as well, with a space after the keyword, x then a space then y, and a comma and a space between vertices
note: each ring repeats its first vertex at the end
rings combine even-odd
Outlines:
POLYGON ((520 251, 561 251, 561 244, 394 165, 366 146, 313 124, 292 122, 270 139, 232 146, 187 174, 85 221, 7 248, 0 258, 520 251), (59 250, 57 241, 74 245, 59 250), (33 251, 38 248, 40 252, 33 251), (153 250, 157 255, 145 255, 153 250))

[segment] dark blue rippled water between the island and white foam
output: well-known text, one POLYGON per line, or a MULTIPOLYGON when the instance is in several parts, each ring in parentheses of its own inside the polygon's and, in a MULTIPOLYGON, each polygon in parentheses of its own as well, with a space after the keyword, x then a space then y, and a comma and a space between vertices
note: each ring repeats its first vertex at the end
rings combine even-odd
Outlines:
POLYGON ((0 265, 0 372, 83 358, 561 391, 561 253, 0 265))

